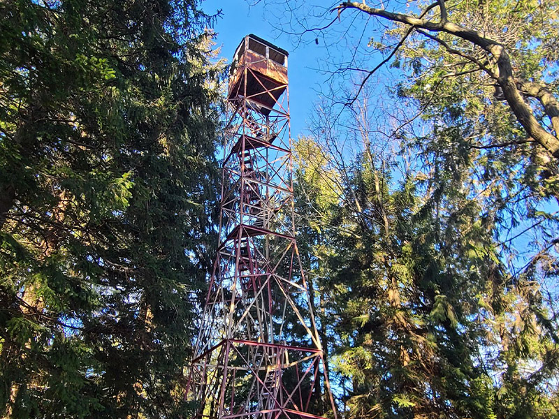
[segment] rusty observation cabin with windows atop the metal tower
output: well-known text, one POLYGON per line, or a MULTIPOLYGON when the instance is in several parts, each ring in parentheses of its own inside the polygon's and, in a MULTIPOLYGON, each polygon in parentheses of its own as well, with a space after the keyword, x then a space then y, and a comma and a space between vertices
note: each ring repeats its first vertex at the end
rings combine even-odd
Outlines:
POLYGON ((247 99, 269 115, 287 89, 288 52, 250 34, 235 50, 229 71, 228 100, 247 99))

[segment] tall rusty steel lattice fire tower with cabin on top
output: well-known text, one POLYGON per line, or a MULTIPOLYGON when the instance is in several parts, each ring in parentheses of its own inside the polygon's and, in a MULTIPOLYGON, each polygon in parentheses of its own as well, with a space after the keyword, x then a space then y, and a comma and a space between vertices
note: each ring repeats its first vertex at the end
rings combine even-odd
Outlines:
POLYGON ((287 56, 248 35, 231 66, 219 247, 187 388, 198 418, 317 419, 324 400, 335 416, 295 240, 287 56))

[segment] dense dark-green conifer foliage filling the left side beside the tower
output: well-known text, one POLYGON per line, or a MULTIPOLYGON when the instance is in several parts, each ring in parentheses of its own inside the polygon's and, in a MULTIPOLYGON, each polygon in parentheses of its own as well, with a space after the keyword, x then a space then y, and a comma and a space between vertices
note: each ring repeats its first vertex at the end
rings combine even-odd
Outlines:
POLYGON ((177 417, 213 240, 198 1, 0 5, 0 414, 177 417))

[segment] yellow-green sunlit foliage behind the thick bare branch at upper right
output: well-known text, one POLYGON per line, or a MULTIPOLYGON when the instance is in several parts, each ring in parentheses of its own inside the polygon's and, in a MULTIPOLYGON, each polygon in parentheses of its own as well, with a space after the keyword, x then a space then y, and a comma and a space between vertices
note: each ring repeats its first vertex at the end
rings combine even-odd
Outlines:
MULTIPOLYGON (((416 2, 420 9, 427 4, 416 2)), ((539 89, 547 89, 551 97, 555 96, 556 103, 559 55, 553 45, 558 42, 558 7, 557 1, 447 4, 449 22, 480 31, 485 38, 506 48, 512 76, 524 103, 537 122, 555 137, 556 111, 545 109, 539 98, 523 86, 527 80, 538 84, 539 89)), ((439 20, 439 14, 435 8, 428 17, 439 20)), ((387 30, 382 47, 400 40, 406 29, 395 25, 387 30)), ((440 42, 414 32, 396 52, 399 66, 407 76, 395 87, 397 94, 414 98, 421 117, 427 121, 444 112, 470 124, 472 133, 465 137, 465 146, 472 150, 472 159, 479 159, 479 166, 486 167, 485 176, 491 177, 493 170, 502 172, 518 165, 523 170, 518 172, 516 167, 513 173, 522 177, 524 184, 541 196, 557 196, 553 187, 556 161, 549 163, 550 156, 545 156, 542 147, 527 135, 511 112, 511 103, 504 100, 495 78, 496 58, 489 57, 467 38, 445 31, 436 35, 440 42)))

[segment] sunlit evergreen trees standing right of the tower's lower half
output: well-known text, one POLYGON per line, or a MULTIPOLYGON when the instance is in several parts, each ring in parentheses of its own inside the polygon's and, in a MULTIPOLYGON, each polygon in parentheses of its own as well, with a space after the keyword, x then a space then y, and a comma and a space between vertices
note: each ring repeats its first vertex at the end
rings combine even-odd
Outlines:
POLYGON ((307 242, 321 243, 310 272, 328 290, 321 321, 335 330, 349 417, 557 415, 556 321, 535 283, 511 282, 500 260, 498 211, 486 211, 493 201, 472 178, 469 129, 441 115, 430 142, 416 142, 423 170, 398 181, 372 145, 352 164, 346 156, 345 173, 317 164, 318 152, 299 161, 307 242), (323 188, 340 179, 342 205, 325 206, 323 188))

